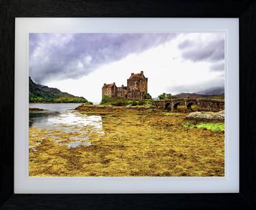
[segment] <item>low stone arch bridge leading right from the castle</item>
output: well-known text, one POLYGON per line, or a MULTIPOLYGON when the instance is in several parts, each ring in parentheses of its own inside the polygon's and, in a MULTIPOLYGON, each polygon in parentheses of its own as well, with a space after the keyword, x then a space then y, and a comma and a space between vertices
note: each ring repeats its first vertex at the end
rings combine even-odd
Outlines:
POLYGON ((167 99, 154 101, 153 105, 170 111, 177 111, 178 105, 184 105, 188 110, 192 110, 192 105, 197 105, 196 111, 221 111, 225 109, 224 99, 167 99))

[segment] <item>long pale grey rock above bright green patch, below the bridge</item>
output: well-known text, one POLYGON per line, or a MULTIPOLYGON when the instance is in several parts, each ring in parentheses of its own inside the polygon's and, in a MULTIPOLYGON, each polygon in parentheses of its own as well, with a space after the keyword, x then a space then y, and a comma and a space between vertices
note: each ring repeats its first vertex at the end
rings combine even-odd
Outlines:
POLYGON ((225 111, 219 111, 219 112, 205 112, 205 111, 195 111, 188 116, 186 116, 186 119, 188 120, 221 120, 223 121, 225 119, 225 111))

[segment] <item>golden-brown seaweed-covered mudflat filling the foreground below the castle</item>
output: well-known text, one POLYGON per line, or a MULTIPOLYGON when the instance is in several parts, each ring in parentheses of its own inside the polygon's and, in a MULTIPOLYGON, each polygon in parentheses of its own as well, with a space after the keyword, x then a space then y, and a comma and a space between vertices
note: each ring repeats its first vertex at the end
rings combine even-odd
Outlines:
POLYGON ((29 175, 223 176, 223 122, 201 126, 187 115, 125 107, 63 113, 51 127, 29 128, 29 175))

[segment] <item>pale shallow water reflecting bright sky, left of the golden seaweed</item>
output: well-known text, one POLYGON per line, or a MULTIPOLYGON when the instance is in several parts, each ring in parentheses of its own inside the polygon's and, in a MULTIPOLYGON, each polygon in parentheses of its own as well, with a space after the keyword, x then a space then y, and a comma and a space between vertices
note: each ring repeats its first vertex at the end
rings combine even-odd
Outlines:
POLYGON ((65 144, 70 149, 83 145, 90 146, 91 132, 102 133, 102 117, 87 116, 85 113, 72 110, 76 106, 33 104, 30 107, 38 107, 44 111, 30 111, 29 126, 47 130, 44 138, 50 137, 55 143, 65 144))

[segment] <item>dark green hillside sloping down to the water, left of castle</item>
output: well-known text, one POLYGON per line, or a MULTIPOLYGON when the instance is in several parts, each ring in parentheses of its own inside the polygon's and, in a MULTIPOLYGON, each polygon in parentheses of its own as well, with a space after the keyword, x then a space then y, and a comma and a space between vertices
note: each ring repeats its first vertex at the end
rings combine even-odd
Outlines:
POLYGON ((83 97, 76 97, 57 88, 35 84, 29 77, 29 102, 32 103, 87 103, 83 97))

